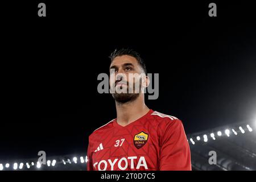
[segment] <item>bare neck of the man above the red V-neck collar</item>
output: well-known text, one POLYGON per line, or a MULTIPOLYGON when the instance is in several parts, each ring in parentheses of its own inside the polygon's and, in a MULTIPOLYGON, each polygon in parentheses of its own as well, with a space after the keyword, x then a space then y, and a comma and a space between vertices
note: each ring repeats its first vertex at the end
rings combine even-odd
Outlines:
POLYGON ((144 98, 139 96, 132 102, 119 104, 115 102, 117 109, 117 123, 121 126, 129 125, 135 120, 147 114, 150 109, 145 105, 144 98))

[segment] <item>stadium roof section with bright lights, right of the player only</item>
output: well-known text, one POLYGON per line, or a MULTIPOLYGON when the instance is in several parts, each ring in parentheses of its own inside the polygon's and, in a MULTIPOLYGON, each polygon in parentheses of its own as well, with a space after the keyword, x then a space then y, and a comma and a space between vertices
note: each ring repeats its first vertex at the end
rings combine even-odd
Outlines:
POLYGON ((189 136, 193 170, 256 170, 256 133, 253 124, 237 123, 189 136), (216 152, 216 165, 209 158, 216 152))

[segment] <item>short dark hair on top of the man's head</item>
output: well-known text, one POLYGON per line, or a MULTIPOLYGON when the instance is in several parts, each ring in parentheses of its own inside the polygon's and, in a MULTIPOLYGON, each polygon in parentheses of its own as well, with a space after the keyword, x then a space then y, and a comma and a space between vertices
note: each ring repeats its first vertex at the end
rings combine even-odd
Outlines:
POLYGON ((109 58, 112 62, 115 59, 115 57, 123 56, 123 55, 132 56, 135 59, 137 59, 139 65, 141 65, 143 71, 145 72, 145 74, 147 74, 146 64, 144 63, 144 61, 141 58, 141 56, 139 55, 139 53, 134 51, 133 49, 129 49, 129 48, 122 48, 122 49, 119 49, 119 50, 115 49, 114 52, 112 52, 110 54, 109 58))

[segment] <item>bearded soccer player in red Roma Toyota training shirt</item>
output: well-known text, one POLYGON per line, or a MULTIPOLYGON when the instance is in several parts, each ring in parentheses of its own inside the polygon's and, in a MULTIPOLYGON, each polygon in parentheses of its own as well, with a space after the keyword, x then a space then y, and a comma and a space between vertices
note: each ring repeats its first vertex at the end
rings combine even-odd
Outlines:
POLYGON ((120 49, 110 59, 112 91, 134 91, 138 82, 140 91, 112 93, 117 118, 89 136, 87 169, 191 170, 189 144, 180 119, 153 111, 144 103, 142 90, 148 86, 149 78, 139 54, 132 49, 120 49), (142 76, 130 79, 129 73, 142 76))

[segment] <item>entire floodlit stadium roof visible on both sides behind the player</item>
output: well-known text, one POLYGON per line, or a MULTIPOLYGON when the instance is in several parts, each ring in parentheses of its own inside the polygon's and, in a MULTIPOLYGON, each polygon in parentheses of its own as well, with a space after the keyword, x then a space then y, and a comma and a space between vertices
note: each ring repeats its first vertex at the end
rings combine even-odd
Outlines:
MULTIPOLYGON (((256 170, 256 129, 253 123, 236 123, 188 135, 192 170, 256 170), (210 151, 216 152, 216 165, 209 164, 210 151)), ((1 161, 2 170, 86 170, 84 154, 52 156, 46 165, 38 159, 1 161)))

